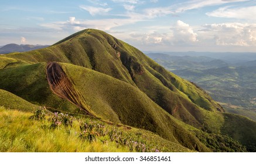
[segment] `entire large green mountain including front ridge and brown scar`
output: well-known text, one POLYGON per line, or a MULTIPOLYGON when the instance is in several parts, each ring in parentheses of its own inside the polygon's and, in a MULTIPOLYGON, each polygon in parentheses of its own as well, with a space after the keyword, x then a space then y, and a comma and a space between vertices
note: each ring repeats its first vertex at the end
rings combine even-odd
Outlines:
POLYGON ((49 111, 144 129, 191 151, 256 150, 254 121, 100 30, 0 58, 0 89, 49 111))

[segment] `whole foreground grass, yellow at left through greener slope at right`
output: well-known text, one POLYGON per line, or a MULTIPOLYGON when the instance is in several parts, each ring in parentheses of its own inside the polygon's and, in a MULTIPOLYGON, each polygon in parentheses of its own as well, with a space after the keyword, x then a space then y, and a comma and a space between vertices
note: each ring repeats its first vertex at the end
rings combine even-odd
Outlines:
POLYGON ((52 118, 52 115, 46 115, 46 119, 41 121, 29 119, 31 115, 33 115, 31 112, 6 110, 0 107, 0 152, 134 152, 156 151, 158 146, 160 151, 189 151, 151 132, 139 129, 115 127, 115 125, 108 125, 90 118, 74 118, 72 127, 60 125, 57 129, 51 129, 49 127, 52 122, 48 119, 52 118), (115 136, 111 139, 108 135, 99 136, 94 141, 81 139, 79 135, 82 122, 87 122, 93 127, 99 124, 104 125, 103 129, 108 131, 108 134, 114 129, 118 138, 115 136), (149 138, 153 140, 146 140, 149 138), (124 144, 124 139, 136 143, 132 142, 133 146, 127 145, 124 144), (136 148, 139 142, 143 142, 146 149, 136 148))

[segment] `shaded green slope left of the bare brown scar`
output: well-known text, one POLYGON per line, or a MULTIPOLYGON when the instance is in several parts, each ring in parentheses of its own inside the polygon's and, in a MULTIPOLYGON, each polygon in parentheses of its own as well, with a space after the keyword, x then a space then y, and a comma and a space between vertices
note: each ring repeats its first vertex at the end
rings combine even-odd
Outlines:
MULTIPOLYGON (((46 63, 0 69, 0 89, 9 91, 33 104, 45 105, 53 110, 79 111, 75 105, 52 93, 45 70, 46 63)), ((12 97, 5 97, 5 99, 11 101, 12 97)), ((2 103, 4 105, 5 101, 2 103)))

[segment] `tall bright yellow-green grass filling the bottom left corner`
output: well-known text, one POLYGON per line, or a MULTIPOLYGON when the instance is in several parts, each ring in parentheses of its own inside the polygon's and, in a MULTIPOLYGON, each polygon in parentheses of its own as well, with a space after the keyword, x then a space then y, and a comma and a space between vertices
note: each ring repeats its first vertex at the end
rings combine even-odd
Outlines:
MULTIPOLYGON (((32 121, 32 113, 0 107, 0 152, 128 152, 114 142, 88 142, 78 138, 79 125, 50 129, 47 120, 32 121)), ((48 116, 49 117, 49 116, 48 116)))

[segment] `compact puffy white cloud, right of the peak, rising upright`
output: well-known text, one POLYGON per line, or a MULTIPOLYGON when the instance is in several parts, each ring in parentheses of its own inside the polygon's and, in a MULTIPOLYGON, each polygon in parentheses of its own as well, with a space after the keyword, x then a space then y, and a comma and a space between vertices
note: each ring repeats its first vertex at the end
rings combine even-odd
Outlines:
POLYGON ((178 20, 172 28, 174 42, 178 44, 197 42, 197 33, 195 33, 189 24, 178 20))

